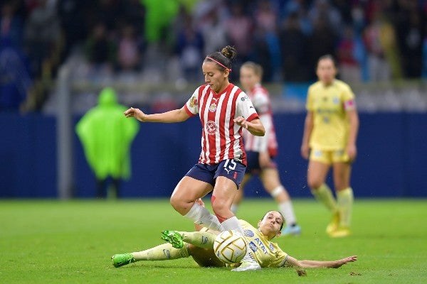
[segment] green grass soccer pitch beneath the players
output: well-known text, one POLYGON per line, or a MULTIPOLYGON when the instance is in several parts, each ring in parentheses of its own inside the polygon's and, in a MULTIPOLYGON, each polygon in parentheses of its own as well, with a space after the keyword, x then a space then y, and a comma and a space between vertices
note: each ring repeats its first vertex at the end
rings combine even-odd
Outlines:
MULTIPOLYGON (((335 260, 342 268, 263 268, 236 273, 199 268, 192 258, 111 265, 115 253, 163 244, 160 231, 193 231, 169 200, 2 200, 1 283, 427 283, 427 200, 356 200, 352 236, 325 234, 327 210, 294 200, 302 235, 275 239, 297 259, 335 260)), ((206 207, 211 210, 209 202, 206 207)), ((256 224, 273 200, 245 200, 238 217, 256 224)))

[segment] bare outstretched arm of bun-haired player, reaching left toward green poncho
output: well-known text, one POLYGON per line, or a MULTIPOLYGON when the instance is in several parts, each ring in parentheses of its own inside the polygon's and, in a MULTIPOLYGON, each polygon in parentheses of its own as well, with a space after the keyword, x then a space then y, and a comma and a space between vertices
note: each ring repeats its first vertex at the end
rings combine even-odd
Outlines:
POLYGON ((186 113, 184 107, 181 109, 174 109, 172 111, 163 112, 161 114, 144 114, 144 112, 140 109, 135 109, 131 107, 127 109, 123 114, 126 117, 135 117, 142 122, 181 122, 189 119, 189 115, 186 113))

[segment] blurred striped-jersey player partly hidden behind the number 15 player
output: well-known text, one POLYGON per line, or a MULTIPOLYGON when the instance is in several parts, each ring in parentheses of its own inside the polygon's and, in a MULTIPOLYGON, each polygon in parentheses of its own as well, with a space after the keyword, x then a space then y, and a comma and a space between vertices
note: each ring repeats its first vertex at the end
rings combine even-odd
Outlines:
POLYGON ((285 187, 280 183, 279 171, 273 158, 278 152, 278 142, 276 141, 275 129, 273 125, 273 114, 271 111, 270 96, 267 89, 261 86, 263 77, 263 67, 254 62, 245 62, 241 66, 240 81, 246 94, 253 103, 260 121, 265 128, 265 136, 253 136, 243 129, 243 141, 246 155, 248 156, 248 168, 243 177, 241 186, 234 197, 231 211, 236 214, 238 204, 243 199, 243 189, 246 182, 253 175, 258 175, 263 187, 278 202, 280 213, 285 217, 287 226, 282 231, 282 236, 299 235, 301 228, 297 224, 292 202, 285 187))

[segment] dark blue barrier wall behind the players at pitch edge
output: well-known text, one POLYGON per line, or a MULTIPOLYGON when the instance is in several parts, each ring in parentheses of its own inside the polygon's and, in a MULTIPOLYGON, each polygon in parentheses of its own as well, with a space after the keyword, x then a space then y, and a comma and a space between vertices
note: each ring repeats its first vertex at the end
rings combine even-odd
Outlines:
MULTIPOLYGON (((292 197, 311 197, 307 161, 300 156, 305 114, 277 114, 276 162, 292 197)), ((78 118, 75 118, 77 121, 78 118)), ((356 197, 427 197, 427 114, 360 114, 359 155, 352 187, 356 197)), ((56 119, 41 114, 0 114, 0 197, 57 197, 56 119)), ((199 158, 198 118, 181 124, 141 124, 132 144, 132 179, 122 197, 168 197, 199 158)), ((95 180, 74 136, 73 196, 95 196, 95 180)), ((331 177, 327 180, 332 185, 331 177)), ((257 179, 248 197, 268 196, 257 179)))

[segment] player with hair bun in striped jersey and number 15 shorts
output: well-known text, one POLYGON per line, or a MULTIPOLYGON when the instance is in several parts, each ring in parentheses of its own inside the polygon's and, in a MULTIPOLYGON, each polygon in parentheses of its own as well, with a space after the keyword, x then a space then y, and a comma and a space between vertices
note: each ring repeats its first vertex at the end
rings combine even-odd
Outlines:
POLYGON ((243 232, 230 210, 246 169, 242 128, 256 136, 263 136, 265 129, 248 96, 228 82, 235 56, 236 50, 231 46, 208 55, 202 65, 206 84, 198 87, 181 109, 144 114, 131 107, 125 116, 167 123, 185 121, 199 114, 202 125, 199 163, 176 185, 170 202, 177 212, 193 222, 219 231, 243 232), (209 192, 215 215, 195 203, 209 192))

